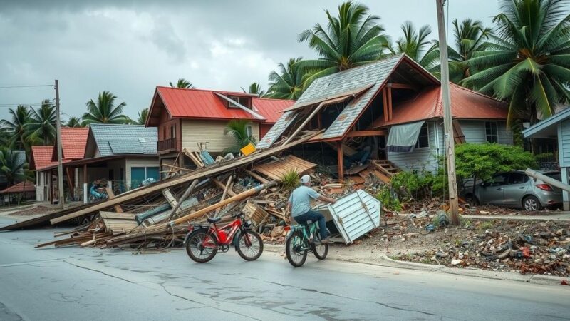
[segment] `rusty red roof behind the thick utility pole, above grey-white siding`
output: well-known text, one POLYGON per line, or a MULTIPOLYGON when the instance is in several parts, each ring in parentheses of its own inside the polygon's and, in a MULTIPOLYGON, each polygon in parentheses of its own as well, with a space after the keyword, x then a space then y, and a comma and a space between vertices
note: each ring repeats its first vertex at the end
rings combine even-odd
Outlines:
MULTIPOLYGON (((451 111, 457 119, 507 119, 507 103, 450 83, 451 111)), ((411 101, 393 106, 392 120, 378 119, 374 128, 442 118, 440 87, 427 88, 411 101)))

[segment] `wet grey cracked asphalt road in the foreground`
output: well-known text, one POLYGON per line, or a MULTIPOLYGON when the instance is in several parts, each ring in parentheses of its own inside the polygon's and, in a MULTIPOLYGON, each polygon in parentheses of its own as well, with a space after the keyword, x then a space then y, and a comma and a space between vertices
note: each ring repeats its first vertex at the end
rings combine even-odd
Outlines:
MULTIPOLYGON (((9 223, 0 218, 0 225, 9 223)), ((570 287, 266 251, 193 263, 183 250, 34 249, 54 229, 0 233, 0 320, 560 320, 570 287)))

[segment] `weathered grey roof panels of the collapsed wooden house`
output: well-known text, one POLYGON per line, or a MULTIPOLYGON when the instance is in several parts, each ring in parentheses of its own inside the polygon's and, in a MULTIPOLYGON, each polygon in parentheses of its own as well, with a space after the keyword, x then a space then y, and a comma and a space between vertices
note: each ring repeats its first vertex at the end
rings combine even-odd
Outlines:
MULTIPOLYGON (((343 136, 351 124, 361 114, 368 103, 374 98, 374 94, 380 90, 385 81, 394 70, 395 66, 402 60, 403 54, 391 56, 375 63, 365 66, 351 68, 339 73, 333 73, 329 76, 317 78, 309 88, 299 97, 295 105, 308 102, 324 101, 331 96, 338 96, 341 93, 358 91, 367 86, 372 86, 367 91, 348 103, 343 111, 338 115, 336 120, 323 133, 322 138, 336 138, 343 136)), ((298 114, 299 111, 290 111, 283 113, 281 118, 266 133, 263 139, 257 144, 257 148, 268 148, 273 144, 286 128, 294 120, 293 113, 298 114)))

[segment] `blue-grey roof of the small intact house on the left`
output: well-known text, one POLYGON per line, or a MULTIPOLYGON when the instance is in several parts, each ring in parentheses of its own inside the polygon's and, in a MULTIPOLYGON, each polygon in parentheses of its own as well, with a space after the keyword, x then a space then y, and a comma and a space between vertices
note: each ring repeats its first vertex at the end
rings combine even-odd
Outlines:
POLYGON ((108 123, 92 123, 89 127, 100 156, 157 155, 156 127, 108 123))

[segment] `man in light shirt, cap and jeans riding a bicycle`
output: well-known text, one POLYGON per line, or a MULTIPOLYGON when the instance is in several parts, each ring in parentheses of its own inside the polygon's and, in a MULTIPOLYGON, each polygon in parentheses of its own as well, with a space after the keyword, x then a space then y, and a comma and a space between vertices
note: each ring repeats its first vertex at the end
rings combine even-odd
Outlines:
POLYGON ((329 243, 328 236, 326 235, 326 222, 325 217, 314 210, 311 210, 311 199, 322 200, 323 202, 335 203, 336 200, 326 198, 319 193, 316 193, 311 187, 311 176, 304 175, 301 177, 301 186, 296 188, 289 197, 287 204, 287 211, 291 213, 297 223, 302 224, 311 220, 318 221, 318 230, 321 234, 321 243, 329 243))

